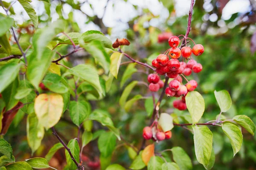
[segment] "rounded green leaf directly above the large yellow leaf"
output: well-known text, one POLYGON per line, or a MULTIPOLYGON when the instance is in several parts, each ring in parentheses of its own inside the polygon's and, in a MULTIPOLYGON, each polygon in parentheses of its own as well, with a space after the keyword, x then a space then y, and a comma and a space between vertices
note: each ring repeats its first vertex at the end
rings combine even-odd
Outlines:
POLYGON ((45 76, 43 83, 50 91, 65 94, 69 91, 69 88, 61 82, 61 79, 58 74, 49 73, 45 76))

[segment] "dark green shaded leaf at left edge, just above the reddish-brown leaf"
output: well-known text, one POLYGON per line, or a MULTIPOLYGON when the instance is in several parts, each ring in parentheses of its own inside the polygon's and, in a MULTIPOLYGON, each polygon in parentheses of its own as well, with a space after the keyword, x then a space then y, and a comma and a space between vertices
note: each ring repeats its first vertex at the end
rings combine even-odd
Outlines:
POLYGON ((14 98, 15 94, 17 93, 17 88, 19 85, 19 80, 16 78, 3 92, 3 100, 6 104, 6 111, 11 110, 14 108, 17 103, 19 102, 17 99, 14 98))

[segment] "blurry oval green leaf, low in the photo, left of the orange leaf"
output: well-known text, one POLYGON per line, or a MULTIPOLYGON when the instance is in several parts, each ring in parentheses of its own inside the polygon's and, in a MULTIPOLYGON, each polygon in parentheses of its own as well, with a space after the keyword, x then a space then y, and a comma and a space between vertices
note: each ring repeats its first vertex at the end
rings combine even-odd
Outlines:
POLYGON ((108 157, 116 147, 116 136, 113 132, 102 133, 98 139, 98 147, 103 157, 108 157))

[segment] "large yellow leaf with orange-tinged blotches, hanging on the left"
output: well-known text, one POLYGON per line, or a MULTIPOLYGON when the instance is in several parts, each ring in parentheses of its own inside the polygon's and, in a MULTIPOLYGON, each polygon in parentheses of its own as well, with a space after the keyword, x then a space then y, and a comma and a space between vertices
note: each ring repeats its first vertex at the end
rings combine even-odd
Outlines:
POLYGON ((35 114, 38 122, 47 130, 56 125, 63 111, 63 97, 60 94, 40 94, 35 98, 35 114))

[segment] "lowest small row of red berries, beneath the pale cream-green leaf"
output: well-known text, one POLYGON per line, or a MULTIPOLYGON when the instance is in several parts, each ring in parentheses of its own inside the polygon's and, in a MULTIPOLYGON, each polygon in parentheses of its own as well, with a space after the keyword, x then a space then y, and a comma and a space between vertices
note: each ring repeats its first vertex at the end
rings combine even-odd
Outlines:
MULTIPOLYGON (((153 127, 155 128, 155 127, 153 127)), ((149 126, 144 127, 143 129, 143 138, 146 140, 152 139, 154 141, 162 141, 164 139, 170 139, 172 137, 172 132, 169 130, 167 132, 163 132, 160 130, 155 131, 149 126)))

